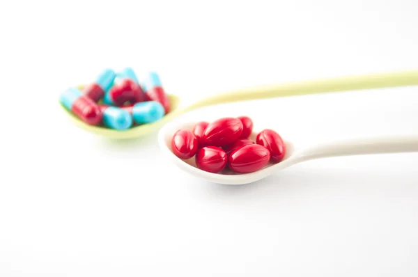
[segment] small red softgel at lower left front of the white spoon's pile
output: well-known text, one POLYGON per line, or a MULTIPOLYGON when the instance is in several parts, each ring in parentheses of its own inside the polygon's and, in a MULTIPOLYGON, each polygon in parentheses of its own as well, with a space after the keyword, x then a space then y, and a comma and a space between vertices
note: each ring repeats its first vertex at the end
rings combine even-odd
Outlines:
POLYGON ((216 146, 203 147, 196 154, 196 166, 211 173, 222 171, 227 160, 225 151, 216 146))

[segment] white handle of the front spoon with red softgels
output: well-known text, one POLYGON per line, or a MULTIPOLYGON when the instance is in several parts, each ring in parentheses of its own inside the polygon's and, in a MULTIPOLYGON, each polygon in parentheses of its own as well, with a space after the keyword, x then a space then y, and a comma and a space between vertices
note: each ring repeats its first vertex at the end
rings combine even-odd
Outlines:
POLYGON ((324 143, 302 150, 298 158, 300 161, 307 161, 327 157, 401 152, 418 152, 418 135, 379 136, 324 143))

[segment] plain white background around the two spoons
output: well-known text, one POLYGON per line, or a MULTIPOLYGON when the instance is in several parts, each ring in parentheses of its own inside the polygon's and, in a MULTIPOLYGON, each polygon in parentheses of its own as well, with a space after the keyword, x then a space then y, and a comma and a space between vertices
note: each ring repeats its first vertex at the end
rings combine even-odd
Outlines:
MULTIPOLYGON (((417 276, 418 155, 210 184, 165 161, 157 133, 109 141, 71 125, 57 102, 107 67, 156 70, 185 101, 417 68, 417 13, 415 0, 3 1, 0 276, 417 276)), ((193 113, 242 113, 300 145, 418 134, 417 91, 193 113)))

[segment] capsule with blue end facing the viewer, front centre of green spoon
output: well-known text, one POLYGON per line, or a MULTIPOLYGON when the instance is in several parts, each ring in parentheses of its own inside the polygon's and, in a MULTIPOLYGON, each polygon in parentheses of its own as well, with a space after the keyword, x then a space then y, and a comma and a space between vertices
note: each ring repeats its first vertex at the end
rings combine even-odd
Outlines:
POLYGON ((132 116, 129 112, 116 106, 100 105, 103 113, 104 126, 111 129, 125 130, 132 126, 132 116))

